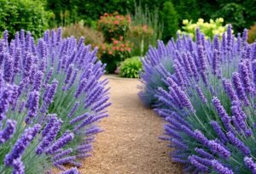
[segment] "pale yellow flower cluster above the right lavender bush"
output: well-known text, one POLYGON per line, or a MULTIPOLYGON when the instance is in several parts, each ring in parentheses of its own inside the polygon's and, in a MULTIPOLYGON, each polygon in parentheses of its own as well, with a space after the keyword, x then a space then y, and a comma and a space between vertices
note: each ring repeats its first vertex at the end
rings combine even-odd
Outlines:
POLYGON ((203 19, 197 20, 195 24, 190 20, 183 20, 183 31, 179 31, 182 34, 189 34, 195 39, 195 30, 200 28, 201 32, 205 34, 206 38, 213 38, 213 36, 222 36, 224 31, 226 31, 226 26, 223 26, 224 20, 218 18, 215 21, 210 20, 210 22, 204 22, 203 19))

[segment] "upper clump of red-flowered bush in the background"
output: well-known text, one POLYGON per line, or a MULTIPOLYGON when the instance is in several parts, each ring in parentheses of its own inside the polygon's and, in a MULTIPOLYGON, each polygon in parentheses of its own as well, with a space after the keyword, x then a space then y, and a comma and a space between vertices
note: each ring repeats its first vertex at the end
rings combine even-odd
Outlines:
POLYGON ((130 24, 130 15, 104 14, 101 16, 101 20, 98 21, 98 29, 102 31, 106 42, 112 42, 113 39, 119 39, 119 36, 125 38, 130 24))

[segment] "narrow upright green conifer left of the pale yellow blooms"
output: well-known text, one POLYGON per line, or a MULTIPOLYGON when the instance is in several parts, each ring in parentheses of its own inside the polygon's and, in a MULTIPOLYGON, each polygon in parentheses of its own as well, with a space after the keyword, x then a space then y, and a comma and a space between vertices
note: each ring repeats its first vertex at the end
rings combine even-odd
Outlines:
POLYGON ((164 22, 163 39, 169 40, 177 32, 177 12, 172 2, 164 3, 164 8, 160 12, 161 19, 164 22))

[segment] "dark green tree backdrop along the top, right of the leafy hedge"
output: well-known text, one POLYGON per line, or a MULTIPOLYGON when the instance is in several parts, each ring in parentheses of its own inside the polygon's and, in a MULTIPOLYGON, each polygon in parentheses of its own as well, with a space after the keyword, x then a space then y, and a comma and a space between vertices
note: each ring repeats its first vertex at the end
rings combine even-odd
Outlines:
MULTIPOLYGON (((119 14, 127 14, 128 11, 134 14, 134 3, 134 0, 48 0, 47 8, 55 14, 51 25, 68 25, 84 20, 86 25, 93 26, 104 13, 118 11, 119 14)), ((150 12, 160 9, 164 40, 176 35, 184 19, 197 21, 199 18, 221 17, 233 25, 235 32, 241 32, 254 24, 256 16, 256 1, 252 0, 136 0, 136 3, 147 7, 150 12)))

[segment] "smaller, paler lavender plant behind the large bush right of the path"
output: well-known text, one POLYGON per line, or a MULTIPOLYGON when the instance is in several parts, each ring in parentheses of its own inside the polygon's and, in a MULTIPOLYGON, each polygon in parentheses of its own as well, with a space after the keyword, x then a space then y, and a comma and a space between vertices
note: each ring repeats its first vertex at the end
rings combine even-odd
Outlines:
POLYGON ((140 81, 143 85, 139 87, 141 92, 138 95, 145 106, 154 107, 154 104, 157 104, 157 98, 154 97, 154 94, 158 92, 158 87, 167 89, 162 78, 172 76, 173 73, 172 42, 168 42, 165 46, 164 42, 158 41, 158 48, 149 47, 145 59, 141 59, 143 71, 140 74, 140 81))

